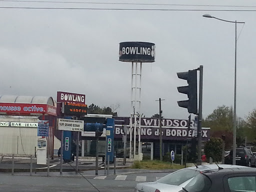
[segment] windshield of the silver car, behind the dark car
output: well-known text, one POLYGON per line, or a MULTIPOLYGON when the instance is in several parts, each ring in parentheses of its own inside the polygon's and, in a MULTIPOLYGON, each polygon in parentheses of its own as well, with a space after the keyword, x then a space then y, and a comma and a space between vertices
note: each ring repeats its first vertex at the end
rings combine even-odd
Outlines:
POLYGON ((196 176, 197 174, 199 174, 198 170, 185 168, 185 169, 181 169, 176 172, 170 173, 158 179, 157 182, 164 183, 164 184, 180 185, 181 183, 196 176))

